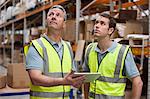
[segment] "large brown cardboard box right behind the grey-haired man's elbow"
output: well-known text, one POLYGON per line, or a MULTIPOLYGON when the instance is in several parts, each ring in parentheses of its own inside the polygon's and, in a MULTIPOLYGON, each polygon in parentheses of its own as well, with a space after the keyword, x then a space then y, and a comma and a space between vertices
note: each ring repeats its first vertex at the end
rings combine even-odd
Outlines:
POLYGON ((7 84, 13 88, 29 87, 30 79, 23 63, 8 64, 7 84))

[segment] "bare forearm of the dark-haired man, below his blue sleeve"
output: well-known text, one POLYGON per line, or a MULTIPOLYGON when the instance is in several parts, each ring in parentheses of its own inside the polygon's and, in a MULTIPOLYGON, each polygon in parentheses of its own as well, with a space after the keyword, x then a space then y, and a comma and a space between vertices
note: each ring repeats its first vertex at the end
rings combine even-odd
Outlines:
POLYGON ((143 82, 140 76, 133 77, 132 79, 132 99, 140 99, 143 82))

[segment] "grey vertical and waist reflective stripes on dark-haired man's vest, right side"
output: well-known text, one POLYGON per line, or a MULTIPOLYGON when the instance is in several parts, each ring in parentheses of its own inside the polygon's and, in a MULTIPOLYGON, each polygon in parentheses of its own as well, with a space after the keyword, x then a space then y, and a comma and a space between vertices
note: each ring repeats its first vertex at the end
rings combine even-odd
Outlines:
POLYGON ((110 83, 125 83, 126 82, 126 78, 119 78, 121 64, 123 61, 123 54, 125 52, 125 49, 126 49, 125 46, 121 46, 121 48, 119 50, 119 54, 118 54, 118 58, 117 58, 117 62, 116 62, 116 68, 115 68, 115 72, 114 72, 114 78, 100 76, 97 80, 104 81, 104 82, 110 82, 110 83))

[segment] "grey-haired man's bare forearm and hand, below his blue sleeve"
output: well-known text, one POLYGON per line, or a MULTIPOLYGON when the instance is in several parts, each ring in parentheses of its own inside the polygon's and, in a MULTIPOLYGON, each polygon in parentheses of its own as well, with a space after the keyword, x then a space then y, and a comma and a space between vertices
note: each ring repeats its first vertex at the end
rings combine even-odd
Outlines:
POLYGON ((80 87, 84 81, 84 76, 72 78, 73 72, 68 73, 64 78, 53 78, 45 76, 40 70, 28 70, 31 81, 37 86, 59 86, 59 85, 73 85, 74 87, 80 87))

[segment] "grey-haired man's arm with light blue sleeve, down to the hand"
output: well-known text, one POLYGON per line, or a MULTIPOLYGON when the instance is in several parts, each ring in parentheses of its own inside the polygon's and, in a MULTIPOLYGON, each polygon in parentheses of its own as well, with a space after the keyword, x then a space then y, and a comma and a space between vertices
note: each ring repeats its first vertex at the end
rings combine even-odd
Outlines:
POLYGON ((73 85, 74 87, 79 87, 83 81, 83 77, 72 78, 72 71, 64 78, 53 78, 43 75, 43 59, 33 46, 29 48, 26 56, 26 70, 29 73, 32 83, 38 86, 73 85))

